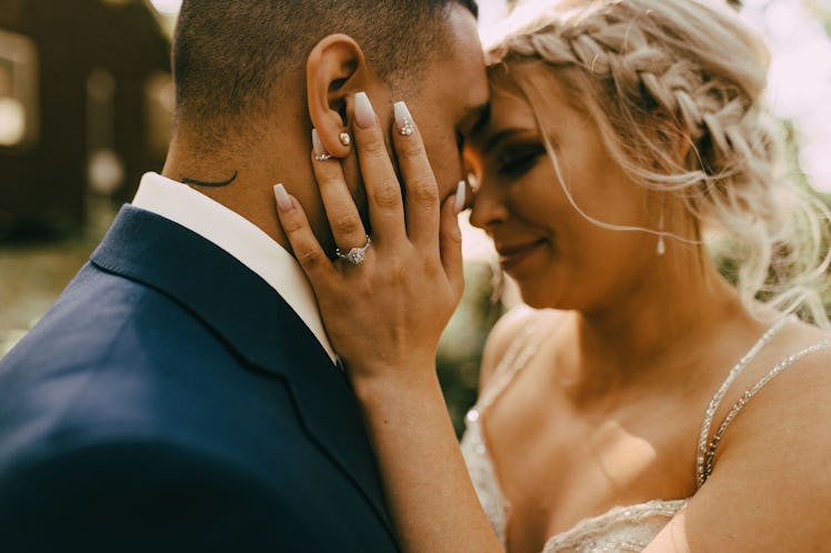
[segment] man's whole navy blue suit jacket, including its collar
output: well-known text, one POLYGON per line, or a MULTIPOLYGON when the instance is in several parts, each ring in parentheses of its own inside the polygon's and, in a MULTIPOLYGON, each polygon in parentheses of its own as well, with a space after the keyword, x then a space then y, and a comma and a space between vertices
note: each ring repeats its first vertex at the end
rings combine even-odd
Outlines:
POLYGON ((314 335, 234 258, 126 207, 0 361, 0 551, 398 550, 314 335))

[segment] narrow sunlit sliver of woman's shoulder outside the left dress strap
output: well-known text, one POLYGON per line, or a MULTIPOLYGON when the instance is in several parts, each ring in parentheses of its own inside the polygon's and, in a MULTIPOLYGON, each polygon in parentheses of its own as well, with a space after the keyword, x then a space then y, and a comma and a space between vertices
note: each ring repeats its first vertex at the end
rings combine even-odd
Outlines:
POLYGON ((568 315, 567 311, 552 309, 532 309, 520 304, 508 311, 493 325, 482 352, 482 364, 479 372, 479 390, 484 386, 493 375, 499 362, 504 356, 514 340, 529 326, 534 329, 554 328, 568 315))

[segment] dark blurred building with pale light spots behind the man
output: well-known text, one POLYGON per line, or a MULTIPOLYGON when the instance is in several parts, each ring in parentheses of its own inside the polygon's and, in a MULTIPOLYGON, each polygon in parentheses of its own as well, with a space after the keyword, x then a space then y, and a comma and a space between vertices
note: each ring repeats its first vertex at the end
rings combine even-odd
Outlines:
POLYGON ((163 163, 169 41, 142 0, 0 0, 0 238, 71 228, 163 163))

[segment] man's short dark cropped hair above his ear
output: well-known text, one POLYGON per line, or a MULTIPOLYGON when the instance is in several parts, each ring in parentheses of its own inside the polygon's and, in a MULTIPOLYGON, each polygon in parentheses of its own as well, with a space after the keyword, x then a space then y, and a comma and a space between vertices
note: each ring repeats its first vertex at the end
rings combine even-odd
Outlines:
POLYGON ((388 82, 418 76, 447 44, 441 23, 453 3, 477 14, 474 0, 184 0, 172 57, 177 119, 224 127, 263 113, 279 76, 338 32, 388 82))

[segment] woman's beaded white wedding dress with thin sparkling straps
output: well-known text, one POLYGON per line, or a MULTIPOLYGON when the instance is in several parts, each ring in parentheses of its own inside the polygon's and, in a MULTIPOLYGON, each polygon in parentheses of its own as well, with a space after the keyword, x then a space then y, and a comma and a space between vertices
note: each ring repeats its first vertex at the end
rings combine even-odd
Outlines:
MULTIPOLYGON (((744 404, 764 384, 789 365, 809 353, 831 346, 831 341, 817 343, 794 355, 790 355, 771 369, 764 378, 748 390, 733 405, 725 416, 724 422, 708 442, 713 415, 730 384, 733 383, 744 366, 783 326, 787 320, 780 320, 753 345, 744 358, 730 371, 727 380, 710 402, 704 414, 704 422, 699 439, 699 452, 695 463, 698 487, 701 487, 712 471, 713 458, 722 434, 744 404)), ((537 344, 529 340, 531 334, 533 334, 533 328, 528 326, 513 341, 500 361, 491 382, 473 409, 468 412, 465 421, 467 431, 461 442, 462 454, 468 464, 468 471, 479 495, 479 501, 503 547, 507 544, 505 537, 510 517, 510 504, 503 496, 493 461, 488 452, 480 415, 505 390, 513 378, 537 353, 537 344)), ((637 505, 615 506, 599 516, 584 519, 570 530, 551 536, 545 542, 542 553, 641 552, 654 540, 675 513, 687 504, 687 501, 688 499, 672 501, 654 500, 637 505)))

